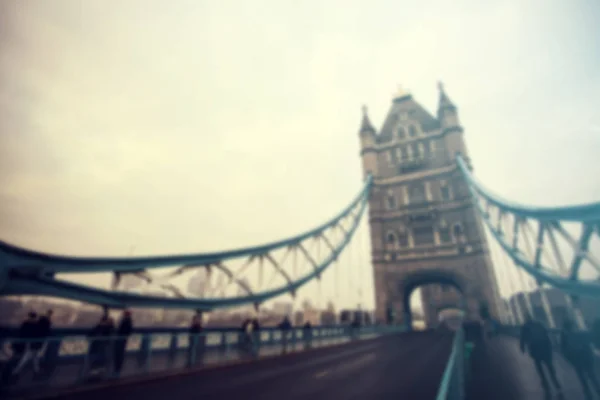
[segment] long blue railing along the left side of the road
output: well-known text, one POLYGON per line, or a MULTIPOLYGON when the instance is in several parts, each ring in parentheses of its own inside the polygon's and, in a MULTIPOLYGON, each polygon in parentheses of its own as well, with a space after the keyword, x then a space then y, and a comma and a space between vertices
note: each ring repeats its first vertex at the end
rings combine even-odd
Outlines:
MULTIPOLYGON (((126 338, 86 337, 84 334, 47 338, 37 351, 39 370, 29 359, 24 368, 22 358, 11 354, 13 344, 28 346, 36 340, 0 339, 0 389, 9 396, 22 396, 40 390, 58 390, 103 379, 160 374, 186 368, 227 364, 298 352, 309 348, 375 338, 404 330, 400 326, 320 326, 281 331, 261 328, 247 335, 236 330, 203 332, 190 335, 185 331, 134 333, 126 338), (123 340, 125 343, 123 344, 123 340), (123 366, 115 372, 117 346, 125 345, 123 366), (16 373, 15 373, 16 371, 16 373)), ((37 339, 39 341, 39 339, 37 339)), ((26 352, 30 357, 33 353, 26 352)))

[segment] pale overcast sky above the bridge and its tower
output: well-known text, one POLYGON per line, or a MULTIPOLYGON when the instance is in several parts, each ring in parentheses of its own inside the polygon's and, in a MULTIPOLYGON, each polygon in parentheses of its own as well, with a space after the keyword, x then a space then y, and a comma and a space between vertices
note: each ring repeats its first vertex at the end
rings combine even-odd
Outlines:
POLYGON ((361 186, 361 105, 379 127, 401 84, 435 111, 440 79, 490 188, 600 199, 599 22, 596 0, 2 1, 0 237, 123 255, 298 233, 361 186))

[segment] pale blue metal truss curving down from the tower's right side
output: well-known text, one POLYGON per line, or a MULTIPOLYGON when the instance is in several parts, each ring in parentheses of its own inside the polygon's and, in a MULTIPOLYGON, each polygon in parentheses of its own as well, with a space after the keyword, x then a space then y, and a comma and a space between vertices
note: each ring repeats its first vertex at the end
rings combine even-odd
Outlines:
POLYGON ((502 250, 538 285, 600 297, 600 203, 531 207, 487 190, 457 157, 479 215, 502 250))

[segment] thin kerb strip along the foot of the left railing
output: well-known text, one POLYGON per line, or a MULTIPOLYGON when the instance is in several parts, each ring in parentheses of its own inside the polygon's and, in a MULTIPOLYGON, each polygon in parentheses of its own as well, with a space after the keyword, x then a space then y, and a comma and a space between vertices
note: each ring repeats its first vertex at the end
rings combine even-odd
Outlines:
MULTIPOLYGON (((369 341, 372 341, 375 339, 380 339, 382 337, 392 336, 392 335, 393 334, 376 336, 376 337, 372 337, 372 338, 368 338, 368 339, 362 339, 362 340, 360 340, 360 342, 363 342, 363 343, 369 342, 369 341)), ((233 361, 226 361, 226 362, 215 364, 215 365, 202 365, 202 366, 198 366, 198 367, 194 367, 194 368, 177 369, 175 371, 170 371, 170 372, 165 371, 165 372, 149 373, 149 374, 132 376, 132 377, 122 378, 122 379, 108 379, 108 380, 98 382, 98 383, 85 384, 83 386, 65 387, 62 389, 57 388, 54 390, 45 389, 46 392, 44 394, 29 394, 29 395, 25 394, 23 396, 17 395, 14 398, 15 399, 18 398, 19 400, 54 400, 54 399, 59 400, 59 399, 62 399, 63 396, 81 394, 81 393, 86 393, 86 392, 94 392, 97 390, 104 390, 107 388, 132 386, 132 385, 136 385, 136 384, 140 384, 140 383, 144 383, 144 382, 166 381, 166 380, 173 379, 173 378, 179 378, 179 377, 197 374, 202 371, 208 371, 208 370, 212 371, 212 370, 233 368, 233 367, 237 367, 240 365, 246 365, 246 364, 250 364, 250 363, 260 363, 261 361, 271 360, 274 358, 280 358, 280 359, 281 358, 293 358, 294 356, 301 355, 301 354, 316 353, 321 350, 349 346, 352 344, 355 344, 355 343, 353 343, 353 342, 337 343, 337 344, 332 344, 329 346, 313 347, 311 349, 295 351, 295 352, 287 353, 287 354, 265 355, 258 359, 233 360, 233 361), (48 393, 48 391, 51 391, 51 393, 48 393)))

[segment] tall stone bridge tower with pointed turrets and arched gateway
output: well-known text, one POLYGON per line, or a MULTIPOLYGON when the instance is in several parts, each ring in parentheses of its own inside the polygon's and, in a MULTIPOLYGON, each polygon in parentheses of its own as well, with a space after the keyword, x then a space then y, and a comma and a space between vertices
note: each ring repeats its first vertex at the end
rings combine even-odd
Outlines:
POLYGON ((442 84, 436 117, 400 92, 379 132, 363 109, 359 135, 364 174, 374 177, 369 222, 377 318, 395 315, 395 323, 410 326, 410 295, 425 285, 430 326, 449 303, 464 305, 467 318, 478 319, 482 305, 498 317, 483 224, 455 159, 460 153, 469 162, 463 128, 442 84))

